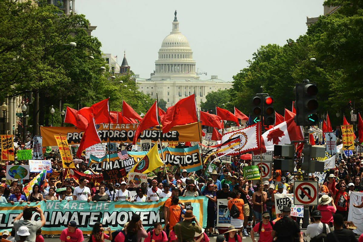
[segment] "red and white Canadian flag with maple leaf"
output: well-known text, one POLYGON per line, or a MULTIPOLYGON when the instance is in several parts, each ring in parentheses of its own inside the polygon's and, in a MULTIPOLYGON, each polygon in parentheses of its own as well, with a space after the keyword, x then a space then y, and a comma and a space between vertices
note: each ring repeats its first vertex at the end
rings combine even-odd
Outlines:
POLYGON ((261 152, 273 151, 275 144, 290 144, 292 140, 303 139, 304 133, 301 126, 297 126, 294 118, 291 118, 261 135, 261 152))

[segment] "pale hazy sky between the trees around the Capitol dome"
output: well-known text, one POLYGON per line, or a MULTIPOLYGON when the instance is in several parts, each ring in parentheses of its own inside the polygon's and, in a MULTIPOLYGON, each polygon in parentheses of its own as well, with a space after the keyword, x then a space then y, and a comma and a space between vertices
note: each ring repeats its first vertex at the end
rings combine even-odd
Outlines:
POLYGON ((323 14, 324 0, 76 0, 77 13, 97 26, 92 35, 103 53, 123 51, 131 70, 150 78, 163 39, 171 32, 174 11, 187 37, 201 79, 232 81, 261 45, 284 45, 307 30, 306 17, 323 14))

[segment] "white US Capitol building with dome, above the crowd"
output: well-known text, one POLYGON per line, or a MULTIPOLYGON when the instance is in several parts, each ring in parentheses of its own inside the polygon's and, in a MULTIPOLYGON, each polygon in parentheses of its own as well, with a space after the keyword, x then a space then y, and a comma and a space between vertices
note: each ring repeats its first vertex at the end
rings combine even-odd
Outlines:
POLYGON ((167 107, 195 93, 197 107, 200 108, 200 103, 206 101, 205 95, 211 91, 229 89, 232 82, 218 79, 217 75, 212 75, 208 80, 199 79, 192 49, 187 38, 179 31, 176 11, 174 15, 172 30, 159 49, 154 73, 151 73, 149 79, 140 78, 139 75, 134 75, 134 78, 139 91, 155 99, 158 94, 159 101, 164 99, 167 107))

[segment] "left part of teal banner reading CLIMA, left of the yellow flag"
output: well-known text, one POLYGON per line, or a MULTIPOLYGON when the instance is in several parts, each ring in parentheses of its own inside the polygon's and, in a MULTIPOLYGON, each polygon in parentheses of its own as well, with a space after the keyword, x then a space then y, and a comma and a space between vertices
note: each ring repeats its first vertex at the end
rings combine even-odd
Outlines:
POLYGON ((111 154, 110 157, 109 155, 105 155, 101 158, 91 155, 88 165, 95 172, 102 172, 102 169, 113 170, 125 168, 126 173, 128 173, 134 167, 135 160, 132 157, 126 160, 120 160, 117 153, 111 154))

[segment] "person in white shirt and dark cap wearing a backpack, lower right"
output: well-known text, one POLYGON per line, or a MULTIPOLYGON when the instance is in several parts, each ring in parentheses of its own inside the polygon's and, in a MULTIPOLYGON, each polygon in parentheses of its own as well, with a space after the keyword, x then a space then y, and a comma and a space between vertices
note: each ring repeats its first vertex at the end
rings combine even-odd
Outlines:
POLYGON ((305 234, 310 237, 310 242, 326 242, 326 235, 330 233, 329 225, 322 223, 321 212, 314 210, 311 212, 311 220, 313 223, 307 226, 305 234))

